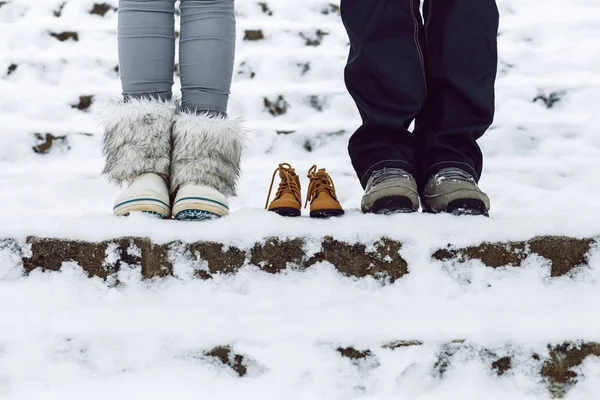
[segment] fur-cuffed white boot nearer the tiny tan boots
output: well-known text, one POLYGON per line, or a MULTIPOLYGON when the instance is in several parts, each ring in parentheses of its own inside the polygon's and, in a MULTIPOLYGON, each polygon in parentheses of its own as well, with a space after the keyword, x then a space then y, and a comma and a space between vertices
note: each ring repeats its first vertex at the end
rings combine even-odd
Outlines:
POLYGON ((229 214, 235 196, 246 132, 241 121, 183 112, 173 125, 173 216, 204 220, 229 214))

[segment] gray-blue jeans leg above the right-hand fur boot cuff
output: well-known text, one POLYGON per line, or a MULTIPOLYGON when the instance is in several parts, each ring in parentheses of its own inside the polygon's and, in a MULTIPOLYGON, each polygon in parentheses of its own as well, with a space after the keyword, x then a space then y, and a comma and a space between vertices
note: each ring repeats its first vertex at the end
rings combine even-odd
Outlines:
POLYGON ((182 0, 179 68, 183 109, 227 112, 235 55, 233 0, 182 0))

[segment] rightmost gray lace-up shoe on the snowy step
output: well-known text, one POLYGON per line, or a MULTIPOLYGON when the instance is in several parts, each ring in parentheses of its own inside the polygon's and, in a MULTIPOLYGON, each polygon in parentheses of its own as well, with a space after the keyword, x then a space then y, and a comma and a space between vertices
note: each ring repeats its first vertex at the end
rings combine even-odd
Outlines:
POLYGON ((425 212, 487 216, 490 210, 489 197, 459 168, 444 168, 429 178, 422 200, 425 212))

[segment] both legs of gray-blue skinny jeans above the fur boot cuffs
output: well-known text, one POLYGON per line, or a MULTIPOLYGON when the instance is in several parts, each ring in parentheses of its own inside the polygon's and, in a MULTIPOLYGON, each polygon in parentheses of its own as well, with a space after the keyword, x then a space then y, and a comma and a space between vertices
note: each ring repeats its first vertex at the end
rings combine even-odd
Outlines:
MULTIPOLYGON (((234 0, 181 0, 182 106, 227 112, 235 54, 234 0)), ((125 98, 172 96, 175 0, 120 0, 119 64, 125 98)))

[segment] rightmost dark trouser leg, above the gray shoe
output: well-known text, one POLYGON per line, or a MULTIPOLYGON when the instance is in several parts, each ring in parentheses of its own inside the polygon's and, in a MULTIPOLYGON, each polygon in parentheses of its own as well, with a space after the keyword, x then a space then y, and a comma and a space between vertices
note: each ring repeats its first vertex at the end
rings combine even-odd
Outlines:
POLYGON ((425 0, 427 102, 417 118, 424 181, 444 168, 479 180, 476 140, 494 118, 498 62, 495 0, 425 0))

